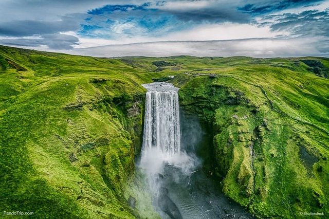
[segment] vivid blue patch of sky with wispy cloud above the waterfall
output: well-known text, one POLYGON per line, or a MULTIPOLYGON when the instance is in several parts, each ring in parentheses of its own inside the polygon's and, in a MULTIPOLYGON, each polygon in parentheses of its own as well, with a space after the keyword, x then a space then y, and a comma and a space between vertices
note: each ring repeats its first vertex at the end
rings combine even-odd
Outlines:
POLYGON ((189 28, 174 15, 141 5, 106 5, 88 12, 81 36, 105 39, 160 36, 189 28))

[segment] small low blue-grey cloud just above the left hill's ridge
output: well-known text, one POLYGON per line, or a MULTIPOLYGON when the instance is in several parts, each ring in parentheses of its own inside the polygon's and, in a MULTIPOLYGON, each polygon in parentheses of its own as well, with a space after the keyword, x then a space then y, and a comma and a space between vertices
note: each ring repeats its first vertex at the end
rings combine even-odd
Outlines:
POLYGON ((17 38, 0 40, 0 44, 4 45, 27 47, 48 46, 48 48, 55 50, 69 50, 73 48, 73 45, 78 43, 78 38, 66 34, 45 34, 36 39, 17 38))

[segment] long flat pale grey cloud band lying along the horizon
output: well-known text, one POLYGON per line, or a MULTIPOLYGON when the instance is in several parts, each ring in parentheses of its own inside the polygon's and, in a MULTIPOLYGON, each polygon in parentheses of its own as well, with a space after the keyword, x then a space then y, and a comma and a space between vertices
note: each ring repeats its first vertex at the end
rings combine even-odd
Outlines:
POLYGON ((320 51, 319 39, 248 39, 228 41, 178 41, 108 45, 72 50, 72 54, 97 57, 121 56, 250 56, 299 57, 328 56, 329 48, 320 51))

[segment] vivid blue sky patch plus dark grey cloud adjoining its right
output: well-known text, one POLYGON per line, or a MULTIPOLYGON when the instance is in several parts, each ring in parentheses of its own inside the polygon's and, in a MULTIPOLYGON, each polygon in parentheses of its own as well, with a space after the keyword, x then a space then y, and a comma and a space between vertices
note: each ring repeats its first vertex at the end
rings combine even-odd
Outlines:
POLYGON ((249 22, 227 1, 169 1, 105 5, 88 11, 79 34, 106 39, 159 37, 198 25, 249 22))

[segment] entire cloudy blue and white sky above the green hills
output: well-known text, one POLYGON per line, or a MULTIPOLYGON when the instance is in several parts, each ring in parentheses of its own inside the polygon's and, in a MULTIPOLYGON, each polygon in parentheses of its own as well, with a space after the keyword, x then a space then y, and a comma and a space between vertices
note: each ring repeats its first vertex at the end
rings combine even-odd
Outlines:
POLYGON ((329 0, 1 0, 0 44, 97 57, 329 57, 329 0))

